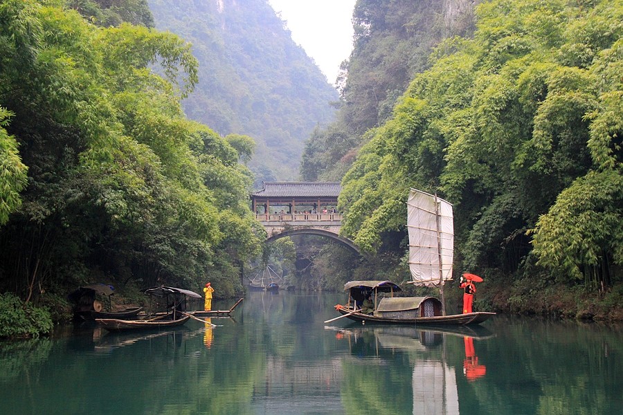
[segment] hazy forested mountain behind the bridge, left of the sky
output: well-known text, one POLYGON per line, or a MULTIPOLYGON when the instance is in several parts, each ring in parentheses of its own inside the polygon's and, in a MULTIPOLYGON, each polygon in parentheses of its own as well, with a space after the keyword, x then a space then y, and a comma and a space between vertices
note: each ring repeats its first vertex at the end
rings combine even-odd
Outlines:
POLYGON ((148 0, 159 30, 193 45, 199 84, 189 118, 257 142, 256 184, 298 178, 304 142, 334 119, 338 93, 267 0, 148 0))

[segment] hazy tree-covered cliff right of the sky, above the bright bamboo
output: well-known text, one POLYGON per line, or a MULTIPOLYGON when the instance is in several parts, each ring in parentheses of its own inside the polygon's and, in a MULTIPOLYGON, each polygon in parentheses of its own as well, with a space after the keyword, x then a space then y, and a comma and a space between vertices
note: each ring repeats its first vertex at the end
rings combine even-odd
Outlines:
POLYGON ((300 174, 308 181, 339 180, 365 143, 365 131, 392 116, 392 108, 442 39, 473 29, 472 2, 359 0, 354 44, 341 66, 337 119, 310 136, 300 174), (453 11, 451 11, 453 10, 453 11))

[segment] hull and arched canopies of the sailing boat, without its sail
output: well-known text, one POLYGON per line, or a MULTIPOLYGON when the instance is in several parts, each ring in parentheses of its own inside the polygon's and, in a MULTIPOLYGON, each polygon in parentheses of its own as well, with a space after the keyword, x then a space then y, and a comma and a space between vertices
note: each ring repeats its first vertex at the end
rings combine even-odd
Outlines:
POLYGON ((344 285, 349 292, 346 306, 338 304, 336 310, 344 317, 359 322, 383 324, 433 324, 464 325, 481 323, 495 313, 467 313, 442 315, 442 303, 435 297, 393 297, 402 291, 391 281, 351 281, 344 285), (379 300, 379 293, 390 293, 392 297, 379 300), (363 299, 368 295, 374 297, 374 312, 364 314, 361 309, 363 299), (351 302, 352 300, 352 302, 351 302))

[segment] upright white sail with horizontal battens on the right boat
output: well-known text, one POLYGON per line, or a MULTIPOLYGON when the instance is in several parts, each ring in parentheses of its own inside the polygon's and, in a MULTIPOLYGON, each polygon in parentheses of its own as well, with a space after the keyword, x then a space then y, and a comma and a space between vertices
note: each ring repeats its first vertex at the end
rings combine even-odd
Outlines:
POLYGON ((407 228, 413 284, 442 286, 452 278, 452 205, 432 194, 411 189, 407 202, 407 228))

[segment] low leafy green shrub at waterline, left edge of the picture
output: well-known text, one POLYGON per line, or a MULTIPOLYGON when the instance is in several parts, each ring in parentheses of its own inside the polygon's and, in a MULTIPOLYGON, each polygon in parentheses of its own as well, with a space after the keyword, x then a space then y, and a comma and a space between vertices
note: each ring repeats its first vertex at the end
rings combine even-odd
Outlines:
POLYGON ((15 294, 0 294, 0 338, 38 337, 53 323, 46 308, 24 304, 15 294))

